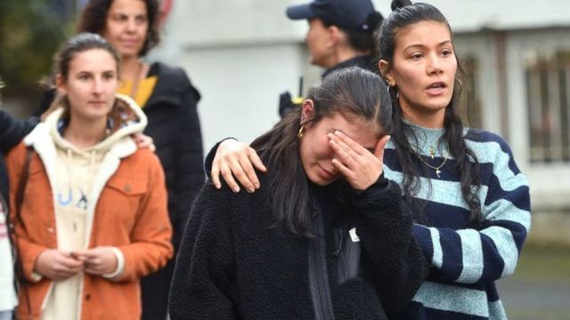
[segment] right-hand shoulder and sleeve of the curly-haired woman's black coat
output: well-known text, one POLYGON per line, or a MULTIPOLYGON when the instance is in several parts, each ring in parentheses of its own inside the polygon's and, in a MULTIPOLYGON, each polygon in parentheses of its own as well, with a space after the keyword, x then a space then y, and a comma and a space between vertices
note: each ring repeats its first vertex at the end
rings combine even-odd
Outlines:
POLYGON ((177 246, 192 201, 205 181, 197 108, 200 96, 182 68, 157 62, 151 65, 149 76, 158 76, 158 82, 142 108, 149 118, 144 133, 154 140, 165 171, 168 212, 177 246))

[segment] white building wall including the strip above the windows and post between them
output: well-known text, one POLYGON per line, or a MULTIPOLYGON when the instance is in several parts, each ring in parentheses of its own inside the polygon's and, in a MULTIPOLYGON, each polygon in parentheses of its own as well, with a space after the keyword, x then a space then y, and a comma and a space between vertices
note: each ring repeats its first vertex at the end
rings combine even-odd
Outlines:
MULTIPOLYGON (((199 114, 206 149, 225 136, 251 141, 278 120, 280 92, 297 93, 299 76, 310 78, 305 84, 318 78, 320 71, 309 66, 303 44, 305 21, 285 16, 287 6, 307 1, 175 1, 156 57, 185 68, 202 93, 199 114)), ((559 0, 424 1, 435 4, 460 33, 567 25, 570 20, 570 2, 559 0)), ((390 12, 389 0, 373 2, 383 14, 390 12)), ((488 42, 493 40, 479 38, 470 45, 493 48, 488 42)), ((485 124, 501 132, 500 116, 493 112, 500 108, 491 87, 496 85, 489 71, 493 60, 481 61, 487 70, 480 86, 485 93, 485 124)))

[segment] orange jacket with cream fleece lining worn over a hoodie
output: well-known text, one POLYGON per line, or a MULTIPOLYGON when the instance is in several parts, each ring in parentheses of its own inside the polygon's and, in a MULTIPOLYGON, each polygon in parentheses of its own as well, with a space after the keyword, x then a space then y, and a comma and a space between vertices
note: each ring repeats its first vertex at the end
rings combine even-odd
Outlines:
MULTIPOLYGON (((34 144, 34 147, 38 146, 34 144)), ((26 146, 20 143, 6 158, 12 181, 11 208, 15 208, 14 195, 20 172, 24 169, 26 152, 26 146)), ((111 164, 112 173, 102 186, 89 222, 92 228, 88 247, 117 247, 123 253, 125 268, 112 280, 84 274, 79 307, 82 320, 139 319, 140 277, 164 266, 173 254, 162 167, 150 150, 133 152, 127 156, 111 155, 115 158, 102 164, 111 164)), ((48 174, 49 167, 44 156, 34 152, 28 169, 20 222, 16 219, 15 210, 11 211, 11 221, 15 222, 14 237, 17 237, 20 260, 27 278, 27 284, 20 290, 20 319, 41 318, 42 306, 53 284, 45 277, 37 281, 37 277, 32 275, 37 256, 45 249, 57 248, 53 193, 48 178, 53 173, 48 174), (28 304, 31 310, 28 310, 28 304)))

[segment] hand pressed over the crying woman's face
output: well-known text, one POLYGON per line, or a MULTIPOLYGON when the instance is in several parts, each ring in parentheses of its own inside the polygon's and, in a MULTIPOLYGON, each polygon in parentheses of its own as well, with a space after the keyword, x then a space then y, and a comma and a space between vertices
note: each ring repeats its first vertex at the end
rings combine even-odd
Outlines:
POLYGON ((384 164, 384 148, 390 136, 384 136, 378 141, 374 154, 343 132, 336 131, 327 136, 330 147, 337 156, 332 159, 332 164, 352 188, 365 190, 379 179, 384 164))

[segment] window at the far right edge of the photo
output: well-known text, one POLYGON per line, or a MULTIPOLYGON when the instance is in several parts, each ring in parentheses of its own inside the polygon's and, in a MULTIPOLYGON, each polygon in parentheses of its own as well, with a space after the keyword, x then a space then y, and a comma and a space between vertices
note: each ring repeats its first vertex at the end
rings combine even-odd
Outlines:
POLYGON ((534 52, 525 78, 531 162, 569 163, 570 52, 534 52))

